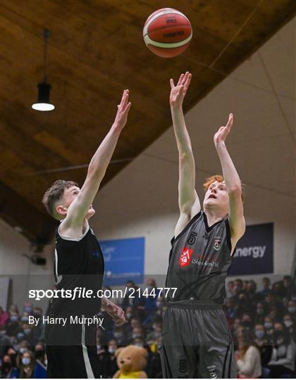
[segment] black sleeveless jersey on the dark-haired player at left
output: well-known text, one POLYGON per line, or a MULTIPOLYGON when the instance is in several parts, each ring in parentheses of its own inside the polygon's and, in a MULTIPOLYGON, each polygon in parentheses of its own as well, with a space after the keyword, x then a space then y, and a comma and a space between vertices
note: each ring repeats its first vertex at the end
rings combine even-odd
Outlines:
POLYGON ((94 315, 101 308, 101 298, 97 291, 101 289, 104 276, 104 258, 96 236, 87 223, 84 234, 76 239, 61 236, 56 232, 56 250, 54 257, 54 279, 56 289, 85 288, 92 290, 90 298, 51 298, 51 313, 54 315, 94 315))

